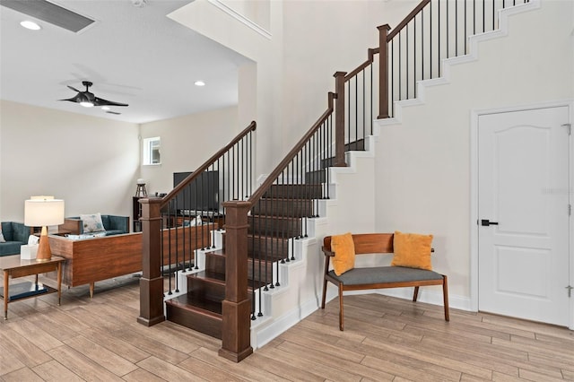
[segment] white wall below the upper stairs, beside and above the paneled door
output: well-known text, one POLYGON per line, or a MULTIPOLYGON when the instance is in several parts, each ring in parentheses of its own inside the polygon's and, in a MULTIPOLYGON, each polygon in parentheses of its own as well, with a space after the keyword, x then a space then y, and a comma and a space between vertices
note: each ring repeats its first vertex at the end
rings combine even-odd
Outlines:
POLYGON ((543 1, 509 17, 508 37, 480 43, 477 61, 451 66, 450 83, 381 127, 376 228, 434 234, 451 295, 470 296, 471 112, 574 98, 573 7, 543 1))

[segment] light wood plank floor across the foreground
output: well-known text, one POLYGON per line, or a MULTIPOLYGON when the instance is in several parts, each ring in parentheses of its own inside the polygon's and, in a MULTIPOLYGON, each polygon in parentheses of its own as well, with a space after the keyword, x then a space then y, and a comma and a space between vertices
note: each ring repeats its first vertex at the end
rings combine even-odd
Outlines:
MULTIPOLYGON (((16 282, 16 281, 13 281, 16 282)), ((13 302, 0 320, 2 381, 574 380, 574 332, 380 295, 337 300, 239 364, 218 340, 138 316, 137 279, 13 302), (109 288, 114 286, 114 288, 109 288), (109 288, 109 289, 108 289, 109 288)))

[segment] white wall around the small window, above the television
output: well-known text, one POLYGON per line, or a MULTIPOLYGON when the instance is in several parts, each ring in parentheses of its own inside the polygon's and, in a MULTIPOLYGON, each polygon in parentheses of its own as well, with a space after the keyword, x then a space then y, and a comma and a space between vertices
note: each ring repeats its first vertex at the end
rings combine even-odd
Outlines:
POLYGON ((237 107, 141 125, 142 142, 161 137, 161 164, 141 168, 148 195, 169 193, 174 172, 194 171, 247 126, 238 125, 237 107))

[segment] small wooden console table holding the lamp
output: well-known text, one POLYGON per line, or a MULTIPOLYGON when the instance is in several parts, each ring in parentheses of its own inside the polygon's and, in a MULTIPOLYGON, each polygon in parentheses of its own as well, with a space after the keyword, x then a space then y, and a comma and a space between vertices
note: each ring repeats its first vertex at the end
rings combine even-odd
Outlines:
POLYGON ((65 258, 60 256, 52 256, 52 258, 47 261, 37 261, 36 259, 24 260, 20 258, 20 255, 0 257, 0 270, 4 271, 4 289, 1 291, 4 299, 4 319, 8 319, 8 303, 16 300, 29 299, 41 294, 54 293, 57 291, 57 305, 60 305, 62 298, 62 264, 64 264, 64 261, 65 258), (38 273, 52 271, 57 271, 57 289, 43 286, 43 288, 39 290, 38 273), (13 293, 11 296, 9 290, 10 278, 15 279, 32 274, 36 275, 36 281, 33 284, 30 283, 33 288, 18 294, 13 293))

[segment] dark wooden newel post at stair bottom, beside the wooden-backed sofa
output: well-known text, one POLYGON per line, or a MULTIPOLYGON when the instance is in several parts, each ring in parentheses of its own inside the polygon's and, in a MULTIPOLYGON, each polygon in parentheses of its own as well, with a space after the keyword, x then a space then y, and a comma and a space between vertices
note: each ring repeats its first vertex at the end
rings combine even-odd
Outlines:
POLYGON ((142 204, 142 278, 137 322, 153 326, 165 321, 161 276, 161 199, 140 199, 142 204))

